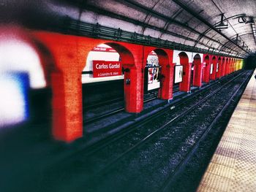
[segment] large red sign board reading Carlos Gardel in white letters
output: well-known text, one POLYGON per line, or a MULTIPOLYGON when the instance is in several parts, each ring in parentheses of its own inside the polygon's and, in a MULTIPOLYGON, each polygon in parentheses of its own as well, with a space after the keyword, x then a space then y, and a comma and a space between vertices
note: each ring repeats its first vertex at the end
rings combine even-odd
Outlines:
POLYGON ((92 61, 93 77, 110 77, 121 75, 120 61, 92 61))

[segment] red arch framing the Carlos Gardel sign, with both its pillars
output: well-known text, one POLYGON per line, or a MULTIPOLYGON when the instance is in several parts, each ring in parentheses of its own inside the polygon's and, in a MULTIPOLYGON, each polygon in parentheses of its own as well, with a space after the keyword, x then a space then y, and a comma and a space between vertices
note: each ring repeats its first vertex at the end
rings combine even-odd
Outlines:
POLYGON ((124 79, 130 80, 130 84, 124 85, 127 112, 143 110, 143 46, 45 31, 35 32, 34 35, 48 47, 56 66, 61 69, 61 72, 53 74, 56 82, 56 91, 53 91, 56 93, 53 94, 53 103, 56 103, 53 106, 53 111, 56 111, 53 112, 53 136, 56 139, 71 142, 83 136, 81 72, 89 52, 99 44, 116 49, 127 69, 124 74, 124 79))

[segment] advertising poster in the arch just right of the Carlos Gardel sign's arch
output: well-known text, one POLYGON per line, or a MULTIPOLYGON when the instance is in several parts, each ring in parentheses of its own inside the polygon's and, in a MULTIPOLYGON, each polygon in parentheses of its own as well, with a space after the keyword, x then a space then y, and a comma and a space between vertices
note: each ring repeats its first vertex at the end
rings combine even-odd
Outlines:
POLYGON ((160 88, 160 68, 148 67, 148 91, 160 88))

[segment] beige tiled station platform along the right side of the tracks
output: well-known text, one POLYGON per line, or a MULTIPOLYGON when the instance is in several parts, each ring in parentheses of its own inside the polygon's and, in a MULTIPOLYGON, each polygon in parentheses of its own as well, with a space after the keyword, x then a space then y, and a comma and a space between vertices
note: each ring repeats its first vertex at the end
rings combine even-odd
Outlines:
POLYGON ((252 75, 197 191, 256 191, 256 80, 252 75))

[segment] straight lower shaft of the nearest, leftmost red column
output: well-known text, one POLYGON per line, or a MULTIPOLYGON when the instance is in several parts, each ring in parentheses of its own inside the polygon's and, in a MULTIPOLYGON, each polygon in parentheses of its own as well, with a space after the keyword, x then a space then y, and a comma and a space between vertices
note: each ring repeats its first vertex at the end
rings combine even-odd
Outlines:
MULTIPOLYGON (((75 72, 77 73, 77 72, 75 72)), ((71 142, 83 136, 82 84, 74 72, 52 74, 53 137, 71 142)))

